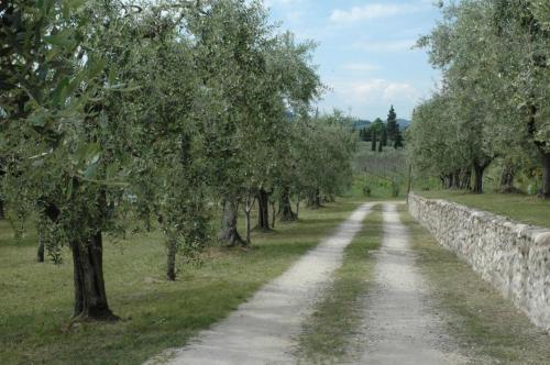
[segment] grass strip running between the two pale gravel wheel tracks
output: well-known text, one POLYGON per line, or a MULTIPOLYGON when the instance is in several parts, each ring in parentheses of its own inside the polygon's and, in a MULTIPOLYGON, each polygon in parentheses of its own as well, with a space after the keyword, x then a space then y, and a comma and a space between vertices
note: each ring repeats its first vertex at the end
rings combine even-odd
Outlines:
POLYGON ((353 354, 361 325, 361 299, 373 280, 372 250, 382 243, 381 206, 365 218, 364 226, 345 248, 342 266, 312 316, 302 327, 297 355, 304 364, 342 363, 353 354))

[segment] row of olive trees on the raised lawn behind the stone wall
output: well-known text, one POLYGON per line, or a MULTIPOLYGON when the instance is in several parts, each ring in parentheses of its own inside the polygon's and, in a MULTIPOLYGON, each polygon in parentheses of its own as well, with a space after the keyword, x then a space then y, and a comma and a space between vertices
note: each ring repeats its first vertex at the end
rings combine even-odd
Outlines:
POLYGON ((419 41, 443 81, 414 113, 413 164, 448 187, 483 191, 495 161, 503 188, 538 162, 550 197, 550 3, 462 0, 443 5, 443 21, 419 41))

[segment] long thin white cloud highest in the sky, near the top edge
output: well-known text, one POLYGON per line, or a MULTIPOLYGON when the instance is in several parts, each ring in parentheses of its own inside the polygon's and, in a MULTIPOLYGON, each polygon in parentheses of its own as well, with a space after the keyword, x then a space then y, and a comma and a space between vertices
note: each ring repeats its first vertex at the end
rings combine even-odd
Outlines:
POLYGON ((363 7, 353 7, 350 10, 337 9, 332 11, 330 20, 338 23, 358 22, 369 19, 395 16, 418 10, 419 7, 410 4, 372 3, 363 7))

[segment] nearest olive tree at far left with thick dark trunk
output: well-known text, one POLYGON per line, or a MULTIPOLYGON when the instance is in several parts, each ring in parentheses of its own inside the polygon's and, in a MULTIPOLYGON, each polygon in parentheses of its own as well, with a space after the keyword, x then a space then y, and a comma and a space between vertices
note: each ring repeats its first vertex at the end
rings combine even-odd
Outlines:
MULTIPOLYGON (((110 113, 123 92, 99 41, 120 41, 123 9, 95 3, 2 2, 2 141, 10 203, 38 208, 73 253, 75 317, 113 320, 102 273, 102 233, 117 231, 119 178, 135 135, 110 113), (96 26, 97 24, 103 26, 96 26), (36 204, 36 202, 41 202, 36 204)), ((127 38, 128 42, 128 38, 127 38)))

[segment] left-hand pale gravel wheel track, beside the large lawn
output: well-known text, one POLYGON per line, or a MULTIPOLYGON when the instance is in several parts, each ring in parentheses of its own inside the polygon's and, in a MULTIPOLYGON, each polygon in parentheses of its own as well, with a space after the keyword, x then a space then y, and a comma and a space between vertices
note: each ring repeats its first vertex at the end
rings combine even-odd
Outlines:
POLYGON ((334 234, 287 272, 260 289, 223 321, 202 331, 183 349, 147 364, 289 364, 302 321, 340 267, 344 248, 362 229, 372 203, 356 209, 334 234))

